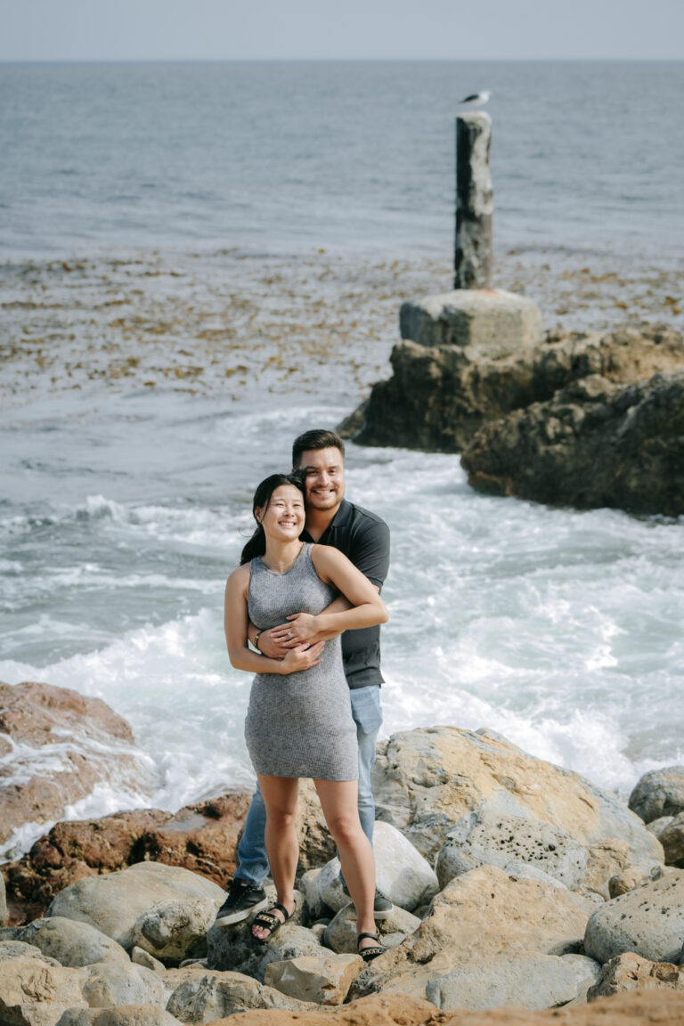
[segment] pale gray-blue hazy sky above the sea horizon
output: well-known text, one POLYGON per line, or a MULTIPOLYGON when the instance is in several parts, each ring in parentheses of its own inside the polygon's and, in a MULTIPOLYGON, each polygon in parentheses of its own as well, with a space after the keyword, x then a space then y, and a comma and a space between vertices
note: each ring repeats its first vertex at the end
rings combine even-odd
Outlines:
POLYGON ((684 58, 684 0, 0 0, 0 61, 684 58))

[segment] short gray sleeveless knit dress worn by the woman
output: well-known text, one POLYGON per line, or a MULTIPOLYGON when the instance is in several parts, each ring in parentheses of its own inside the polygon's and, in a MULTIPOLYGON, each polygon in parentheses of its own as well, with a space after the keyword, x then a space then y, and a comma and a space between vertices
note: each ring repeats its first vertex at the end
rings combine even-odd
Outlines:
MULTIPOLYGON (((249 565, 249 619, 268 630, 293 613, 321 613, 337 592, 324 584, 305 542, 286 574, 257 557, 249 565)), ((325 642, 323 662, 296 673, 258 673, 252 682, 245 741, 257 774, 358 780, 352 700, 338 637, 325 642)))

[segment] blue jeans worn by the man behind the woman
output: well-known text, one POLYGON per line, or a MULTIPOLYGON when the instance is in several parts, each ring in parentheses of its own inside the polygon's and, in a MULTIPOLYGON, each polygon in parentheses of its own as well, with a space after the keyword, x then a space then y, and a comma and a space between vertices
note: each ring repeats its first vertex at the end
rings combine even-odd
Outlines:
MULTIPOLYGON (((368 687, 353 688, 350 695, 359 742, 359 819, 363 832, 372 844, 375 802, 370 789, 370 771, 375 761, 377 732, 383 723, 380 689, 376 684, 370 684, 368 687)), ((265 829, 266 805, 257 784, 238 845, 238 867, 235 870, 237 877, 247 880, 254 887, 263 886, 269 875, 269 860, 264 843, 265 829)))

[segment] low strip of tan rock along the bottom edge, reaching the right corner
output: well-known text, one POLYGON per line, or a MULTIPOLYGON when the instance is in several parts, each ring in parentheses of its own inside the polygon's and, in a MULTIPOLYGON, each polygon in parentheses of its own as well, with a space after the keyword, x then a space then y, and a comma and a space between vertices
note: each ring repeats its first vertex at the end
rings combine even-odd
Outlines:
MULTIPOLYGON (((672 992, 614 994, 594 1004, 529 1012, 437 1012, 405 994, 375 994, 338 1009, 245 1012, 207 1026, 684 1026, 684 997, 672 992)), ((71 1024, 70 1024, 71 1026, 71 1024)))

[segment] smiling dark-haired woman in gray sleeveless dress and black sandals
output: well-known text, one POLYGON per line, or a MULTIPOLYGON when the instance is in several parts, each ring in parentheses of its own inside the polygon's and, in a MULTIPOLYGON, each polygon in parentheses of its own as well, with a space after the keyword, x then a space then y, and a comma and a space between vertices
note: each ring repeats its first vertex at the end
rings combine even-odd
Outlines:
MULTIPOLYGON (((294 829, 299 777, 313 778, 357 913, 359 953, 383 952, 375 934, 373 852, 357 807, 358 751, 339 637, 289 648, 282 660, 252 652, 247 624, 268 630, 287 617, 316 618, 316 631, 335 633, 385 623, 387 609, 369 581, 341 552, 299 541, 304 485, 273 474, 254 494, 257 527, 226 586, 226 640, 231 664, 256 673, 245 739, 266 803, 266 849, 277 901, 255 917, 265 942, 294 909, 298 844, 294 829), (341 592, 352 608, 322 614, 341 592)), ((258 645, 258 635, 256 638, 258 645)))

